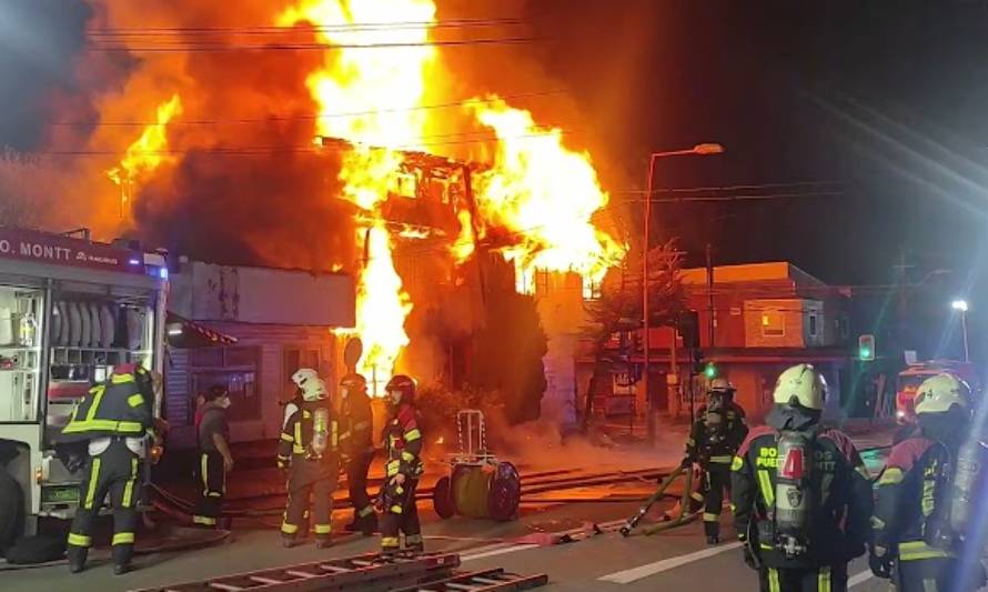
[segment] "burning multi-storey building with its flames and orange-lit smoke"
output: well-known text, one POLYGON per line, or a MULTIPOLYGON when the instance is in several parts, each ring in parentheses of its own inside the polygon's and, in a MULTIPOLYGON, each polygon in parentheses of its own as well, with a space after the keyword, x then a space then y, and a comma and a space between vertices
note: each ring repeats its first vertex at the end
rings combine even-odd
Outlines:
MULTIPOLYGON (((505 282, 537 295, 569 274, 581 294, 624 255, 598 225, 591 155, 468 88, 444 51, 472 24, 433 0, 239 3, 249 24, 184 0, 99 8, 80 68, 120 91, 94 94, 91 134, 62 138, 114 154, 83 171, 91 225, 196 260, 352 274, 354 325, 336 332, 361 337, 379 393, 395 371, 467 375, 505 282)), ((545 324, 548 350, 568 351, 574 329, 545 324)))

